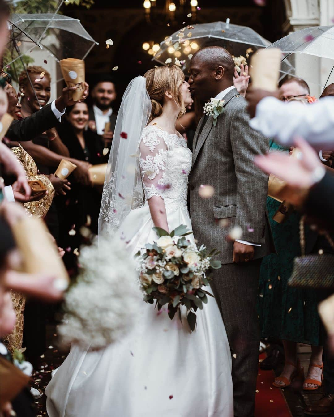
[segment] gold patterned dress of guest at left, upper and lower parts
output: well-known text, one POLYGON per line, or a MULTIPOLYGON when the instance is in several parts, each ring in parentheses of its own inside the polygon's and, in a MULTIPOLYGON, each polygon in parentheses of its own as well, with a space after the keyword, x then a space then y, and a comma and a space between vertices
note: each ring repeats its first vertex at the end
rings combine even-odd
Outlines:
MULTIPOLYGON (((23 166, 27 175, 28 181, 39 180, 43 183, 48 190, 43 198, 38 201, 30 201, 25 203, 23 207, 30 216, 37 216, 43 218, 51 206, 55 190, 49 178, 46 175, 38 175, 37 166, 33 158, 21 147, 16 146, 11 148, 16 158, 18 158, 20 164, 23 166)), ((25 307, 25 296, 23 294, 11 291, 13 306, 16 314, 15 329, 11 334, 6 336, 3 340, 10 353, 14 353, 16 349, 22 348, 23 341, 23 311, 25 307)))

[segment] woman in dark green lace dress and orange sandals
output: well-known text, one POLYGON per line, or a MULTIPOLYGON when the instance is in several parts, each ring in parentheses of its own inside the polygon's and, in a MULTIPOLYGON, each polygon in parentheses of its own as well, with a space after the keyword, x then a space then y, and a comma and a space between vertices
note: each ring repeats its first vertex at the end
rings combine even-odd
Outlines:
MULTIPOLYGON (((274 141, 270 142, 270 151, 289 152, 274 141)), ((266 256, 261 265, 258 312, 261 337, 283 341, 286 362, 282 374, 275 379, 275 386, 285 387, 299 371, 297 342, 311 345, 312 355, 307 378, 321 381, 321 368, 311 364, 322 364, 323 338, 317 311, 319 295, 316 291, 295 289, 287 284, 292 273, 293 260, 300 256, 300 214, 293 211, 284 223, 277 223, 272 217, 279 206, 279 201, 267 198, 277 254, 266 256)), ((304 389, 317 387, 318 384, 304 384, 304 389)))

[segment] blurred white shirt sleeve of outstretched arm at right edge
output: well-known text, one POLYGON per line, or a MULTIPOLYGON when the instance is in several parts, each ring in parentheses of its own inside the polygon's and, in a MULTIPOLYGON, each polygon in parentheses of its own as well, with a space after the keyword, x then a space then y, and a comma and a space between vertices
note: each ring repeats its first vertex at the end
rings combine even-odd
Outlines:
POLYGON ((266 97, 256 106, 256 115, 249 124, 287 147, 294 144, 296 136, 301 136, 318 151, 333 149, 334 98, 321 98, 317 103, 303 106, 296 101, 283 103, 266 97))

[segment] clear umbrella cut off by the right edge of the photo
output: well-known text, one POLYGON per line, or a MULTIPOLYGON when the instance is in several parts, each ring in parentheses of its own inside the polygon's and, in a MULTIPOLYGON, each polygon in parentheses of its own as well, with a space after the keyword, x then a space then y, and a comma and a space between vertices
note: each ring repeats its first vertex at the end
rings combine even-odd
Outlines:
POLYGON ((314 83, 309 74, 319 71, 322 60, 321 67, 326 71, 324 86, 329 82, 334 69, 334 26, 314 26, 298 30, 277 40, 269 48, 279 48, 282 51, 282 75, 301 77, 314 83), (294 62, 293 54, 300 55, 298 67, 288 63, 288 58, 290 63, 294 62))

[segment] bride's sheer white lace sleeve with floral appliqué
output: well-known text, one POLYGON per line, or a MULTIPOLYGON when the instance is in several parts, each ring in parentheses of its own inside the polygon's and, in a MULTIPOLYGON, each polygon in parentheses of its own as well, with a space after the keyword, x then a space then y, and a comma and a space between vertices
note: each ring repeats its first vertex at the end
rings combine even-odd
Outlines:
POLYGON ((153 196, 163 198, 167 151, 167 145, 156 129, 143 131, 139 144, 139 165, 146 200, 153 196))

